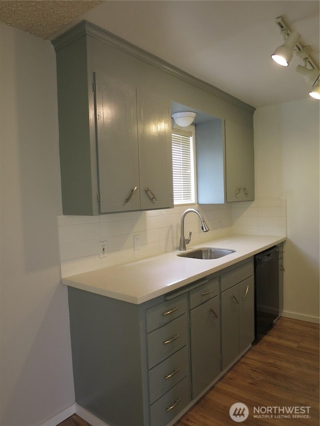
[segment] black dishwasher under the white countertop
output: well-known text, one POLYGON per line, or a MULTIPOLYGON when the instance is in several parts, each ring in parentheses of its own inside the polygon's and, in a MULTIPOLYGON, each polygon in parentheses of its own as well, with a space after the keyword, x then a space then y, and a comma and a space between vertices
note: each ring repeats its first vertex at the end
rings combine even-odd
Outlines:
POLYGON ((279 249, 274 246, 254 256, 255 341, 279 317, 279 249))

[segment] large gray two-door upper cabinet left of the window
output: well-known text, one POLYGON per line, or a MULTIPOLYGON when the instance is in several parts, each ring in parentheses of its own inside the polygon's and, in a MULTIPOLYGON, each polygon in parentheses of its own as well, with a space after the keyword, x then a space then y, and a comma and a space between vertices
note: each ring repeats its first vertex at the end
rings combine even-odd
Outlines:
POLYGON ((82 26, 53 42, 63 214, 173 207, 169 100, 82 26))

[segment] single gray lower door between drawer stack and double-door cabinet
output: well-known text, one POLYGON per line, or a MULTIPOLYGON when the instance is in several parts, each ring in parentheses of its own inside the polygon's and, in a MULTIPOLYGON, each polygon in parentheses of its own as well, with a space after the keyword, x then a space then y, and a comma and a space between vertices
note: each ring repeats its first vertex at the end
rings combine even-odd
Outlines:
POLYGON ((195 398, 221 371, 218 296, 192 309, 190 321, 192 398, 195 398))

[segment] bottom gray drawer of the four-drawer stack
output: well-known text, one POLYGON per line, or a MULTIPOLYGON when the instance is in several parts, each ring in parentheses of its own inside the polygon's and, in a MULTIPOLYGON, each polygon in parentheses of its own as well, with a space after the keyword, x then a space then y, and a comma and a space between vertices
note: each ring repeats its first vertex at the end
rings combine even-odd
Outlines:
POLYGON ((165 426, 191 400, 189 378, 186 377, 150 406, 150 425, 165 426))

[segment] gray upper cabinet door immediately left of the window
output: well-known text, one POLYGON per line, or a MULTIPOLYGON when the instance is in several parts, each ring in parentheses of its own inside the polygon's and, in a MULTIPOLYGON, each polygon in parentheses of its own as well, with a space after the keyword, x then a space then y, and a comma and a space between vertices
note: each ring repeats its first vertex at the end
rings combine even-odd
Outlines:
POLYGON ((141 210, 173 207, 169 104, 138 88, 137 105, 141 210))

